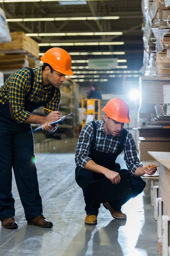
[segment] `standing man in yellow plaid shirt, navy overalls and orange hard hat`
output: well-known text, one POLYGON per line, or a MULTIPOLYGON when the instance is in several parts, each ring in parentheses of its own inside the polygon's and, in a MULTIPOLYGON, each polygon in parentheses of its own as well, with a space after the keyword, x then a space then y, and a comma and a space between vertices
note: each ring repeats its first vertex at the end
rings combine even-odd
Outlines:
POLYGON ((17 228, 14 198, 11 192, 13 167, 17 189, 28 224, 51 227, 42 214, 37 169, 34 164, 34 140, 31 124, 54 132, 61 98, 59 87, 65 75, 72 75, 71 57, 64 49, 51 48, 41 57, 39 68, 22 68, 9 76, 0 88, 0 221, 4 228, 17 228), (44 116, 32 112, 45 106, 44 116))

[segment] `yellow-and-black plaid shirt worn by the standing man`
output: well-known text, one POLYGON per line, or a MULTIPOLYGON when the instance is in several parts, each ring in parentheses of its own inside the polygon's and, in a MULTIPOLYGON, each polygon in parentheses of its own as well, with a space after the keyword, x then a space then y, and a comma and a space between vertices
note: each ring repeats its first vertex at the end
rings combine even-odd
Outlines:
MULTIPOLYGON (((42 67, 33 68, 34 71, 34 85, 31 94, 28 96, 30 102, 45 101, 50 94, 52 85, 43 85, 42 81, 42 67)), ((28 93, 31 87, 31 76, 28 69, 20 69, 15 71, 8 77, 6 82, 0 88, 0 104, 10 103, 14 116, 18 123, 25 122, 31 115, 25 110, 25 95, 28 93)), ((57 111, 59 108, 59 102, 61 99, 60 89, 56 88, 53 99, 45 108, 52 111, 57 111)), ((50 111, 44 111, 44 115, 47 116, 50 111)))

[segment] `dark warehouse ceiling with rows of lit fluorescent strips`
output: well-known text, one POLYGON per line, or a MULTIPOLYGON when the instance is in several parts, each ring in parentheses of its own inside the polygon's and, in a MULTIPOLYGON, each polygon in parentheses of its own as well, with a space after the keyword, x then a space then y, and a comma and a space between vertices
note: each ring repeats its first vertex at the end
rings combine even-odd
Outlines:
MULTIPOLYGON (((112 73, 113 77, 125 75, 127 71, 139 71, 142 67, 141 0, 68 1, 68 5, 66 1, 7 1, 10 0, 0 0, 0 7, 5 11, 10 31, 34 33, 32 38, 40 44, 40 54, 51 47, 67 50, 75 62, 73 65, 77 66, 73 71, 79 76, 88 79, 85 72, 89 71, 89 58, 118 58, 118 65, 124 68, 113 69, 116 71, 112 73), (30 18, 39 20, 30 21, 30 18), (42 21, 42 18, 51 20, 42 21), (111 32, 110 35, 107 32, 111 32), (117 43, 119 45, 114 45, 117 43), (121 62, 125 60, 127 62, 121 62)), ((131 73, 127 74, 130 76, 131 73)), ((93 79, 94 75, 88 76, 93 79)), ((110 79, 111 73, 104 72, 97 78, 106 79, 107 76, 110 79)))

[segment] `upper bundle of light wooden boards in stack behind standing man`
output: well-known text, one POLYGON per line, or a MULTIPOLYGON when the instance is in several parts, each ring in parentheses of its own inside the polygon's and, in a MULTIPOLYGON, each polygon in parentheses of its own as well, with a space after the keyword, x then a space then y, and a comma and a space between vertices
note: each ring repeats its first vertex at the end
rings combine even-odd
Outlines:
POLYGON ((0 53, 28 53, 39 58, 38 43, 24 32, 11 32, 11 42, 0 44, 0 53))

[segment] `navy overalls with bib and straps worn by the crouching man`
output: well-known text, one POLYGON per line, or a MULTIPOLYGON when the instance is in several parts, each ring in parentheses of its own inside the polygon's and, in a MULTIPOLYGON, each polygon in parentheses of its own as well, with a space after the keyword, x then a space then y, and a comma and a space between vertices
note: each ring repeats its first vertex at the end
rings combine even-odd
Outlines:
MULTIPOLYGON (((105 168, 108 168, 114 172, 119 172, 119 174, 125 173, 125 172, 129 173, 128 170, 121 169, 120 165, 116 163, 116 158, 123 151, 127 130, 123 128, 121 131, 122 137, 121 137, 121 141, 120 141, 117 152, 105 153, 95 149, 96 123, 92 121, 92 124, 94 128, 94 137, 91 142, 91 154, 89 155, 89 157, 91 157, 91 159, 95 163, 99 164, 100 166, 104 166, 105 168)), ((102 175, 97 172, 92 172, 86 169, 82 169, 81 167, 76 168, 76 181, 77 181, 77 184, 83 190, 83 195, 84 195, 85 204, 86 204, 85 211, 87 214, 97 215, 99 212, 100 204, 94 204, 89 183, 94 180, 100 180, 102 178, 105 178, 105 175, 102 175)), ((130 178, 130 183, 133 191, 133 197, 135 197, 136 195, 139 195, 143 191, 146 183, 144 180, 142 180, 141 177, 139 178, 133 177, 130 173, 129 173, 129 178, 130 178)), ((129 199, 130 198, 122 198, 119 200, 113 200, 113 201, 110 201, 109 204, 113 209, 120 210, 122 205, 125 204, 129 199)))

